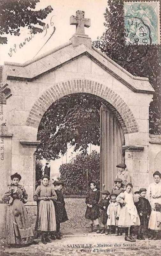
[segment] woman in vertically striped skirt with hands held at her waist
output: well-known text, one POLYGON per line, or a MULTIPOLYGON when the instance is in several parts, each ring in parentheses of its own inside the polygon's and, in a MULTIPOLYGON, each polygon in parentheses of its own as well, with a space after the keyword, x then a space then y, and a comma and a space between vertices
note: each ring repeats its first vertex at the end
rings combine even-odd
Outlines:
POLYGON ((41 231, 41 241, 43 244, 51 242, 48 232, 56 230, 55 207, 53 201, 57 196, 53 185, 49 185, 50 178, 44 175, 42 185, 36 188, 33 200, 38 202, 35 231, 41 231))

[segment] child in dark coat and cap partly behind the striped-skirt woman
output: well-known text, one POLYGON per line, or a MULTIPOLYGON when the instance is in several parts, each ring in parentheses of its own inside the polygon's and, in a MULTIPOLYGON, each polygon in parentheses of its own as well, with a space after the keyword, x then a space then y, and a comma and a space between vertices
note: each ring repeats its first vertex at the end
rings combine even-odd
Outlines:
MULTIPOLYGON (((62 194, 62 187, 64 183, 62 181, 54 181, 54 189, 57 195, 57 200, 55 202, 55 219, 56 219, 56 233, 57 239, 61 239, 60 233, 60 223, 68 220, 67 212, 65 210, 65 202, 62 194)), ((54 239, 54 236, 52 237, 54 239)))

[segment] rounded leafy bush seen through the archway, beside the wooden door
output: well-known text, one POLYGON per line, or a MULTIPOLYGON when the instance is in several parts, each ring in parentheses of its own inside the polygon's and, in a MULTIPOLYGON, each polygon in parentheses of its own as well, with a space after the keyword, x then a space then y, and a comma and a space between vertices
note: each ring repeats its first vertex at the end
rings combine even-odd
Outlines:
POLYGON ((65 195, 84 195, 90 189, 91 180, 99 183, 100 154, 93 151, 90 155, 79 154, 69 164, 60 166, 60 180, 65 183, 65 195), (88 170, 88 181, 87 181, 88 170))

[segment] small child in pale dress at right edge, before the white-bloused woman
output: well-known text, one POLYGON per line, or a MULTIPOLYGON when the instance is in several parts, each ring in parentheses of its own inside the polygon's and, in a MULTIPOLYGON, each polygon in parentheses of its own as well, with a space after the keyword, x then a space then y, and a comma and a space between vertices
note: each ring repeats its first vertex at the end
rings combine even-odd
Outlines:
POLYGON ((158 240, 159 231, 161 230, 161 205, 158 203, 154 204, 155 210, 151 211, 148 228, 151 230, 152 236, 148 239, 158 240))

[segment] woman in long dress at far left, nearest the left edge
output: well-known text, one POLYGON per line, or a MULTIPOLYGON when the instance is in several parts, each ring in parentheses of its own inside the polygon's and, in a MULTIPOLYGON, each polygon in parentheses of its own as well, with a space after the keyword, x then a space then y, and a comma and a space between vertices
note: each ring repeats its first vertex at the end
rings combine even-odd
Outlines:
POLYGON ((33 230, 28 218, 26 207, 27 193, 22 185, 19 185, 21 176, 16 172, 11 175, 12 183, 6 189, 2 200, 8 203, 7 207, 7 243, 8 244, 32 244, 33 230))

